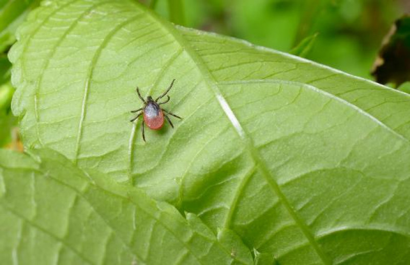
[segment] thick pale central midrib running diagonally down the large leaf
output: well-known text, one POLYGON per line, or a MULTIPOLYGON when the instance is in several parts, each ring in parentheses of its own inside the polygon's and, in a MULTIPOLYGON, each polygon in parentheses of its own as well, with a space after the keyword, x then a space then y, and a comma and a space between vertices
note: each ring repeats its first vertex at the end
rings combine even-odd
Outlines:
MULTIPOLYGON (((138 4, 136 4, 136 5, 138 5, 138 4)), ((140 6, 138 5, 138 7, 140 7, 140 6)), ((191 48, 190 44, 180 35, 180 33, 176 31, 174 26, 172 26, 171 24, 169 25, 168 23, 162 22, 161 19, 158 18, 155 14, 153 14, 150 10, 146 10, 146 12, 155 21, 157 21, 158 24, 160 26, 162 26, 162 28, 164 28, 167 32, 169 32, 174 37, 174 39, 176 40, 176 42, 179 44, 179 46, 182 49, 185 49, 185 51, 187 52, 189 57, 192 59, 193 63, 195 64, 195 66, 197 67, 199 72, 202 74, 203 79, 204 79, 205 83, 207 84, 207 87, 212 91, 212 93, 216 97, 219 105, 221 106, 222 111, 227 115, 227 117, 230 121, 230 124, 233 126, 234 130, 238 133, 239 137, 244 141, 244 144, 246 145, 246 148, 248 149, 249 153, 251 154, 251 157, 254 160, 255 164, 259 165, 260 170, 262 172, 262 175, 264 176, 265 180, 267 180, 267 182, 270 185, 271 189, 274 191, 274 193, 277 194, 280 201, 283 203, 284 207, 289 212, 289 214, 293 218, 294 222, 300 228, 300 230, 302 231, 302 233, 304 234, 306 239, 308 239, 308 241, 311 243, 312 247, 316 251, 319 258, 322 260, 322 262, 324 264, 332 264, 332 261, 330 260, 330 258, 327 257, 327 255, 320 248, 319 244, 315 241, 314 236, 310 232, 308 226, 305 225, 305 223, 299 218, 297 213, 293 210, 293 207, 292 207, 291 203, 288 201, 286 196, 280 190, 279 185, 274 180, 274 178, 273 178, 271 172, 269 171, 265 161, 260 156, 258 150, 253 146, 253 142, 252 142, 251 137, 248 136, 247 133, 245 133, 245 131, 240 126, 240 124, 239 124, 239 127, 238 127, 233 123, 233 121, 231 119, 232 117, 229 116, 230 113, 227 113, 227 109, 226 109, 227 107, 229 107, 229 105, 228 105, 226 99, 222 96, 222 93, 219 90, 217 81, 215 80, 215 78, 213 77, 213 75, 211 74, 209 69, 207 69, 207 67, 206 67, 205 63, 203 62, 203 60, 191 48)), ((229 111, 232 112, 232 114, 234 114, 234 112, 232 111, 232 109, 230 107, 229 107, 229 111)), ((236 118, 236 116, 234 116, 233 118, 235 118, 235 120, 238 121, 238 123, 239 123, 239 120, 236 118)))

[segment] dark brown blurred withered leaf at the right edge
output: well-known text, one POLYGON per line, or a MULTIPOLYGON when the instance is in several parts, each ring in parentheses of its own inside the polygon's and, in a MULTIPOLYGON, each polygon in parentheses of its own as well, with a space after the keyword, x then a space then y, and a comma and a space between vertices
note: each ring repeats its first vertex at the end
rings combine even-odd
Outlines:
POLYGON ((373 72, 378 83, 396 87, 410 81, 410 16, 398 19, 386 36, 373 72))

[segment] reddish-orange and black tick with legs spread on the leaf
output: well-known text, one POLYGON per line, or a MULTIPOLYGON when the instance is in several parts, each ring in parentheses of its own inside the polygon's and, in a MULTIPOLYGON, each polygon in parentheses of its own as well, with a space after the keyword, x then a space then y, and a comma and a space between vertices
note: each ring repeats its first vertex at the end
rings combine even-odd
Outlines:
POLYGON ((159 107, 159 105, 162 104, 166 104, 168 101, 170 101, 170 96, 167 96, 167 99, 161 103, 158 103, 158 100, 161 99, 162 97, 165 97, 167 95, 167 93, 170 91, 170 89, 172 88, 172 85, 174 84, 174 80, 172 80, 170 87, 167 89, 167 91, 165 91, 162 95, 160 95, 159 97, 157 97, 157 99, 155 99, 155 101, 152 99, 151 96, 147 97, 147 100, 145 100, 141 94, 139 93, 139 89, 137 87, 137 93, 139 98, 142 100, 142 102, 144 102, 144 107, 139 108, 137 110, 133 110, 131 112, 138 112, 140 111, 140 113, 138 113, 138 115, 134 118, 132 118, 130 121, 134 121, 136 120, 139 116, 144 115, 144 120, 142 120, 142 125, 141 125, 141 130, 142 130, 142 139, 144 139, 145 141, 145 134, 144 134, 144 123, 147 124, 148 128, 152 129, 152 130, 159 130, 162 128, 163 126, 163 117, 165 116, 165 118, 168 120, 168 122, 170 123, 171 127, 174 128, 174 126, 171 123, 170 118, 168 117, 167 114, 172 115, 178 119, 182 119, 181 117, 175 115, 172 112, 169 112, 165 109, 162 109, 161 107, 159 107))

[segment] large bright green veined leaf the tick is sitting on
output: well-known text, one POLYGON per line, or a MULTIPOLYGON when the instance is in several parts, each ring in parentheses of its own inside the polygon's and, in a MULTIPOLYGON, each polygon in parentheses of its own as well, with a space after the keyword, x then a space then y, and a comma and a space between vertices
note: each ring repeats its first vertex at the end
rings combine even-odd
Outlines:
POLYGON ((134 1, 47 1, 12 49, 26 148, 233 229, 281 264, 410 262, 410 98, 134 1), (131 124, 159 95, 176 128, 131 124))

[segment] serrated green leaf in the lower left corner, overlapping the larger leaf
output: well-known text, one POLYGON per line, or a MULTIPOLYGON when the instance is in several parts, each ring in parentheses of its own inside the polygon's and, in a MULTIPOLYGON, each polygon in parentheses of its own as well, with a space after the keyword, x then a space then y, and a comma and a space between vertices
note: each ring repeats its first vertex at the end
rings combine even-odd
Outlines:
POLYGON ((233 232, 217 240, 193 214, 184 219, 167 203, 81 172, 61 155, 39 154, 38 163, 0 150, 2 264, 252 262, 233 232))

